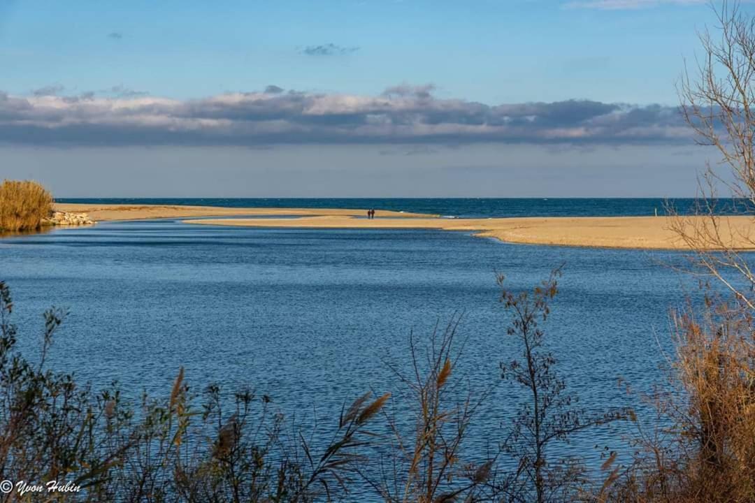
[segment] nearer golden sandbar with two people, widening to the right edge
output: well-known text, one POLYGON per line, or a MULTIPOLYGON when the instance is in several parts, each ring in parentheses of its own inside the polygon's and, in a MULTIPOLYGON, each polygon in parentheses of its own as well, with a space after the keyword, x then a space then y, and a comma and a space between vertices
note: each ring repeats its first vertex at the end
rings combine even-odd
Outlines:
MULTIPOLYGON (((723 219, 724 239, 740 249, 755 249, 755 220, 747 216, 723 219), (753 236, 753 238, 748 238, 753 236)), ((686 250, 689 247, 670 229, 666 216, 531 217, 495 219, 444 219, 436 217, 378 218, 346 215, 305 216, 297 219, 188 220, 204 225, 241 225, 288 228, 429 228, 467 231, 486 238, 520 244, 572 247, 686 250)), ((698 219, 698 223, 704 220, 698 219)))

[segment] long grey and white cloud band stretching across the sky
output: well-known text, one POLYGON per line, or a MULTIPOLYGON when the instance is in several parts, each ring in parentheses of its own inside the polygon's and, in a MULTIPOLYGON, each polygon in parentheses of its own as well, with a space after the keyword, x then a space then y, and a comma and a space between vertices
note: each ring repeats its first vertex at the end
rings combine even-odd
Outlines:
POLYGON ((0 143, 5 144, 648 144, 689 138, 676 107, 590 100, 490 106, 434 97, 430 85, 391 87, 375 97, 276 86, 201 100, 0 93, 0 143))

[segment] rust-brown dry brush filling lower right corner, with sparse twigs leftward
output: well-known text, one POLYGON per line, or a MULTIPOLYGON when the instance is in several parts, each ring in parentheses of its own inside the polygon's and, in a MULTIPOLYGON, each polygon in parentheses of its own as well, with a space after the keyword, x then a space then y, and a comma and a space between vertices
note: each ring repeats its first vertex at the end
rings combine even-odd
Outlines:
POLYGON ((641 437, 609 501, 755 501, 755 339, 738 305, 676 314, 675 388, 659 394, 655 434, 641 437))

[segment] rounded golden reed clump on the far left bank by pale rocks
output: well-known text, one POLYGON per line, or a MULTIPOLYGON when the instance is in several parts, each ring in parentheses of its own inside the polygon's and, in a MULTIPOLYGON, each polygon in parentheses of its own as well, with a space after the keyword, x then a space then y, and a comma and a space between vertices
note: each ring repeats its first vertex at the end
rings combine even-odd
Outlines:
POLYGON ((32 180, 4 180, 0 184, 0 229, 35 230, 52 211, 52 195, 32 180))

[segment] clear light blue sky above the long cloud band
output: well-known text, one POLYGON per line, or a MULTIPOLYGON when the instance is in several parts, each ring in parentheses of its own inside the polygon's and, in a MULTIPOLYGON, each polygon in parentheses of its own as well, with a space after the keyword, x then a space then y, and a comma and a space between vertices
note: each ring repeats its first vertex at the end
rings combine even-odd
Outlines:
POLYGON ((287 89, 377 94, 408 82, 482 103, 676 103, 699 2, 559 0, 5 2, 0 88, 123 85, 166 97, 287 89), (109 36, 111 35, 112 36, 109 36), (334 44, 344 54, 309 56, 334 44))

